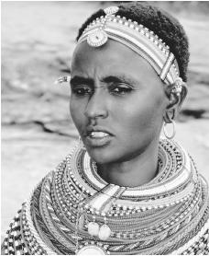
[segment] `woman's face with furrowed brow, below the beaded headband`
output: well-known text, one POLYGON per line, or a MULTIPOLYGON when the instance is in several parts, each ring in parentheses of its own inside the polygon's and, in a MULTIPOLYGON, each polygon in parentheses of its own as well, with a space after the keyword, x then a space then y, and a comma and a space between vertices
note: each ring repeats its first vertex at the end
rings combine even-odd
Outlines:
POLYGON ((71 117, 90 157, 122 162, 159 140, 168 99, 154 69, 125 45, 82 42, 71 63, 71 117))

